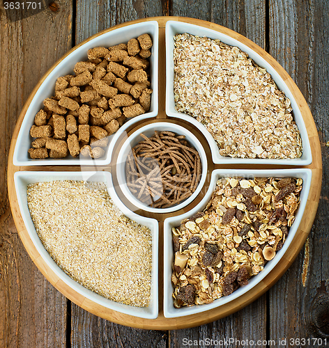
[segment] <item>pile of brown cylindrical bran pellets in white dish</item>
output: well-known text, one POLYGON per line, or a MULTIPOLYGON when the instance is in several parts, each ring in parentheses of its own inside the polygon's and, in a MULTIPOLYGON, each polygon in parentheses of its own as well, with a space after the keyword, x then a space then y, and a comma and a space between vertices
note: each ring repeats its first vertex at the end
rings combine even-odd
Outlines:
POLYGON ((31 159, 104 156, 109 136, 150 109, 151 47, 145 33, 127 44, 89 49, 88 60, 75 64, 74 75, 57 79, 54 96, 36 114, 31 159))

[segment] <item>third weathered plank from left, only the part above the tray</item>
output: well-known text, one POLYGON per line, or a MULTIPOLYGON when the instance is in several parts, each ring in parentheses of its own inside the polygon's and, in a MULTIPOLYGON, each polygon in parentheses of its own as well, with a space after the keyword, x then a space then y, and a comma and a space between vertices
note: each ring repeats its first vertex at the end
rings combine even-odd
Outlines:
POLYGON ((193 17, 226 26, 265 48, 265 0, 173 0, 171 15, 193 17))

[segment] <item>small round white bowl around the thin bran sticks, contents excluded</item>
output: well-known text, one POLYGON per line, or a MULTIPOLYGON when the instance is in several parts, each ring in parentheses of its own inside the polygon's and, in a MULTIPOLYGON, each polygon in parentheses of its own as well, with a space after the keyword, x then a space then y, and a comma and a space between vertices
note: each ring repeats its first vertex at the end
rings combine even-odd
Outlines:
MULTIPOLYGON (((204 148, 202 147, 200 141, 197 139, 192 132, 188 131, 188 129, 185 129, 181 125, 176 125, 174 123, 170 122, 155 122, 151 123, 149 125, 145 125, 144 127, 141 127, 137 129, 134 133, 132 133, 128 139, 123 143, 120 151, 118 152, 118 159, 116 162, 116 174, 118 178, 118 184, 120 186, 121 191, 123 191, 123 194, 125 195, 128 200, 135 205, 138 209, 144 209, 147 212, 153 212, 153 213, 169 213, 174 212, 176 210, 179 210, 186 205, 190 204, 195 198, 197 198, 199 192, 201 191, 202 187, 204 186, 204 182, 206 181, 207 176, 207 157, 206 152, 204 148), (172 207, 168 208, 153 208, 149 207, 148 205, 144 205, 141 203, 135 196, 132 195, 130 190, 128 189, 127 182, 125 180, 125 161, 127 159, 128 153, 131 151, 131 149, 139 143, 139 141, 144 140, 141 138, 139 134, 143 133, 146 136, 153 136, 155 131, 169 131, 174 132, 177 135, 185 135, 185 139, 192 145, 198 152, 201 159, 201 165, 202 165, 202 174, 199 181, 199 185, 197 189, 192 193, 192 196, 187 198, 186 200, 183 200, 183 202, 179 203, 178 205, 174 205, 172 207)), ((160 197, 159 197, 160 198, 160 197)))

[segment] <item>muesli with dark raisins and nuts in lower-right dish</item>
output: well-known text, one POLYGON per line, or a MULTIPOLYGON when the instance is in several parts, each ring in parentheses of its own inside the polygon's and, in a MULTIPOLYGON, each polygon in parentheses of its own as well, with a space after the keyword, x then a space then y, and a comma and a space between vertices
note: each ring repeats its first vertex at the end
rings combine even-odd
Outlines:
POLYGON ((211 303, 247 285, 289 233, 303 180, 223 177, 204 212, 172 229, 174 306, 211 303))

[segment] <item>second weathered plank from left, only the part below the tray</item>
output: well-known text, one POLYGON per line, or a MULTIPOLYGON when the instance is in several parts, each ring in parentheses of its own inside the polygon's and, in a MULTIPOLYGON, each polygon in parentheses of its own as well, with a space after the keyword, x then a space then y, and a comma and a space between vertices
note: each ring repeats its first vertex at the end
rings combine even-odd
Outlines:
POLYGON ((132 329, 107 322, 78 306, 72 306, 72 347, 165 348, 166 331, 132 329))

